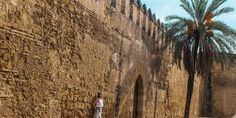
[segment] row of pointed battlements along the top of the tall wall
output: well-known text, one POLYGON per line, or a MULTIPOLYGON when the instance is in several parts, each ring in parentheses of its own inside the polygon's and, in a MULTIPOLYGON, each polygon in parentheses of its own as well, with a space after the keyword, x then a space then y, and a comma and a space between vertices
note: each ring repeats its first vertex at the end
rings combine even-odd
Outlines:
MULTIPOLYGON (((140 0, 76 0, 96 15, 107 20, 108 16, 122 16, 119 23, 127 19, 136 24, 149 36, 155 37, 163 34, 162 25, 156 15, 140 0), (122 20, 123 19, 123 20, 122 20)), ((112 19, 112 18, 111 18, 112 19)), ((123 22, 122 22, 123 23, 123 22)))

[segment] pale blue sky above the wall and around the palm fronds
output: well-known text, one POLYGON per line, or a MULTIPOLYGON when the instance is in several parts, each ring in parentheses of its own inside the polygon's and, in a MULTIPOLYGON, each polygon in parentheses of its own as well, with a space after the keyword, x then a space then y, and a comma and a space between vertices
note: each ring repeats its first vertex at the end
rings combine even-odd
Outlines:
MULTIPOLYGON (((157 18, 164 21, 168 15, 177 14, 179 16, 187 16, 185 11, 179 6, 180 0, 141 0, 152 12, 156 14, 157 18)), ((235 10, 229 14, 222 15, 216 19, 224 21, 226 24, 236 29, 236 0, 228 0, 222 6, 230 6, 235 10)))

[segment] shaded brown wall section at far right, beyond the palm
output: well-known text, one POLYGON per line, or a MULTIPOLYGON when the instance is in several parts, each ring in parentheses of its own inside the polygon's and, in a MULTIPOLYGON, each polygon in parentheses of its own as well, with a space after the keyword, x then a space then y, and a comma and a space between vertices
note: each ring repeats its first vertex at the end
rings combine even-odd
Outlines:
POLYGON ((236 56, 230 66, 217 65, 212 77, 213 110, 216 118, 236 115, 236 56))

